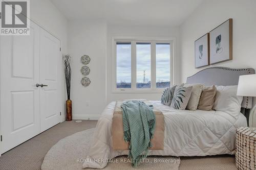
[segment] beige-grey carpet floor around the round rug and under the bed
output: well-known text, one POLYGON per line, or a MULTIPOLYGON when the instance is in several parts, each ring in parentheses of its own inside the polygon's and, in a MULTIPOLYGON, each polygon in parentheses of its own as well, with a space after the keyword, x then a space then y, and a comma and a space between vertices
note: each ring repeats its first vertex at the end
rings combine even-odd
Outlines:
MULTIPOLYGON (((0 157, 1 170, 39 170, 49 149, 60 139, 96 126, 95 120, 63 122, 18 145, 0 157)), ((237 169, 234 156, 181 157, 179 170, 237 169)))

